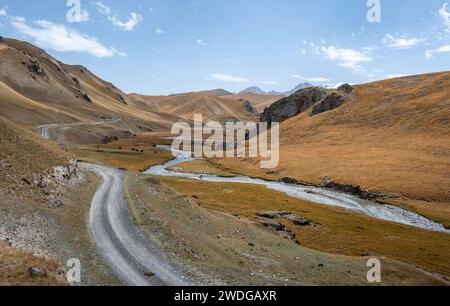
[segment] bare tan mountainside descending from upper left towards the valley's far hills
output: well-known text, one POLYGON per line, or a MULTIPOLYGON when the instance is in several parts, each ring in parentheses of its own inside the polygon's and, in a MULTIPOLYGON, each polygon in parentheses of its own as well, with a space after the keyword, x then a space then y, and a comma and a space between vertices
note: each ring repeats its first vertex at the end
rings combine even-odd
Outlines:
POLYGON ((212 120, 257 119, 245 102, 222 99, 228 95, 218 89, 141 99, 83 66, 64 64, 29 43, 0 37, 0 116, 25 126, 119 118, 110 129, 138 133, 166 131, 174 122, 192 120, 189 116, 196 112, 212 120))

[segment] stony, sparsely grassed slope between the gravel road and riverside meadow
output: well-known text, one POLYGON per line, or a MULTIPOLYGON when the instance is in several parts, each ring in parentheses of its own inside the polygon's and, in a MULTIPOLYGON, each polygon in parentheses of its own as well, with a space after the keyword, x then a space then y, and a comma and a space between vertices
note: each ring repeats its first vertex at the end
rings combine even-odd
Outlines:
MULTIPOLYGON (((213 184, 177 179, 162 182, 129 175, 126 190, 131 211, 155 245, 166 251, 167 260, 195 275, 194 279, 228 285, 367 285, 367 258, 313 251, 246 218, 231 216, 226 206, 232 208, 231 201, 236 200, 229 196, 233 188, 221 192, 213 184), (203 200, 201 207, 190 203, 192 194, 212 198, 214 207, 203 205, 203 200), (217 211, 219 205, 227 214, 217 211)), ((260 191, 243 193, 237 203, 254 204, 252 200, 260 191), (253 198, 248 198, 249 193, 253 198)), ((258 199, 265 196, 261 193, 258 199)), ((384 285, 443 284, 411 265, 384 258, 382 262, 384 285)))

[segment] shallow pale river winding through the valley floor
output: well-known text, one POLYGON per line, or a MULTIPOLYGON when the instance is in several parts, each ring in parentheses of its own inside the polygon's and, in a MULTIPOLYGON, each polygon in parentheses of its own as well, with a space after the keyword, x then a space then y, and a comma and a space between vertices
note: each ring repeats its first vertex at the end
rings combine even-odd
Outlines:
POLYGON ((291 197, 310 201, 313 203, 329 206, 337 206, 358 213, 385 220, 396 222, 400 224, 410 225, 418 228, 423 228, 432 231, 438 231, 450 234, 450 230, 445 229, 442 224, 433 222, 421 215, 407 211, 393 205, 382 205, 368 200, 360 199, 356 196, 336 192, 333 190, 309 187, 301 185, 291 185, 281 182, 271 182, 262 179, 254 179, 246 176, 237 177, 219 177, 217 175, 200 175, 193 173, 180 173, 168 170, 168 168, 195 160, 190 152, 175 151, 171 146, 158 146, 161 149, 169 150, 176 153, 177 157, 164 165, 151 167, 145 174, 166 176, 166 177, 178 177, 192 180, 202 180, 207 182, 224 182, 224 183, 242 183, 242 184, 254 184, 265 186, 266 188, 277 190, 285 193, 291 197))

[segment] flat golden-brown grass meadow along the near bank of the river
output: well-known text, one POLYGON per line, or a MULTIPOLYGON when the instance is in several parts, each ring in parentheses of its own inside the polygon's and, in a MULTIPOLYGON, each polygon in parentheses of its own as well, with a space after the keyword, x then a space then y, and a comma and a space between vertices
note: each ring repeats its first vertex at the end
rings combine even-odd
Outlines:
POLYGON ((261 186, 196 182, 163 178, 162 181, 198 205, 256 220, 264 210, 288 210, 318 227, 294 227, 301 244, 331 254, 370 254, 406 262, 431 272, 450 275, 450 239, 447 234, 380 221, 351 211, 297 200, 261 186))

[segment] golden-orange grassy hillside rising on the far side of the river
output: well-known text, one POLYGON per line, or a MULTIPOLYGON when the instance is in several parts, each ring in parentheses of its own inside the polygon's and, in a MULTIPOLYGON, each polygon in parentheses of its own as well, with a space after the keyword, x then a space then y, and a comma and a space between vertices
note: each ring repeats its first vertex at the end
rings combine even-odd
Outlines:
MULTIPOLYGON (((371 190, 450 202, 450 73, 356 86, 341 108, 281 125, 281 161, 273 178, 322 178, 371 190)), ((259 163, 222 160, 264 176, 259 163)))

